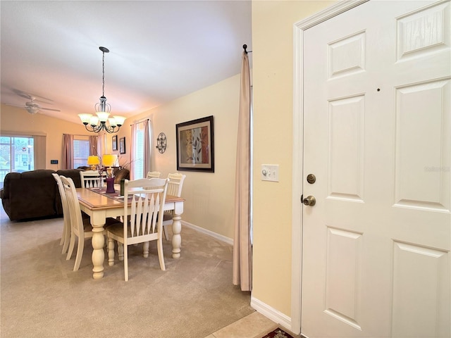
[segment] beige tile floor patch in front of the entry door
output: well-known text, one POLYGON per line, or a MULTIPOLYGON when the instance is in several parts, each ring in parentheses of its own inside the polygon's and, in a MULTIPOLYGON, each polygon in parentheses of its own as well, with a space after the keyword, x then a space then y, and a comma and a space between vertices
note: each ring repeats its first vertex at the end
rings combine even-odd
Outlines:
MULTIPOLYGON (((280 325, 256 311, 205 338, 260 338, 278 326, 280 325)), ((299 336, 292 334, 285 327, 280 326, 280 328, 290 333, 292 337, 299 338, 299 336)))

